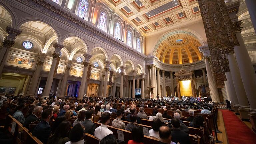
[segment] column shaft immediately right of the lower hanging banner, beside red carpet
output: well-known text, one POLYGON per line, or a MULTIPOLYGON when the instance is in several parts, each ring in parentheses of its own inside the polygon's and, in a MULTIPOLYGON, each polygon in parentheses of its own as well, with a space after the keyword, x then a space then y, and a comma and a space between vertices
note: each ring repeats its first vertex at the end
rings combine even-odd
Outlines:
POLYGON ((226 75, 226 78, 227 78, 227 84, 229 86, 229 92, 230 92, 231 97, 232 97, 231 106, 233 106, 235 114, 239 115, 239 110, 238 110, 239 102, 238 102, 238 99, 237 99, 236 90, 235 90, 235 87, 234 87, 231 72, 226 72, 225 75, 226 75))

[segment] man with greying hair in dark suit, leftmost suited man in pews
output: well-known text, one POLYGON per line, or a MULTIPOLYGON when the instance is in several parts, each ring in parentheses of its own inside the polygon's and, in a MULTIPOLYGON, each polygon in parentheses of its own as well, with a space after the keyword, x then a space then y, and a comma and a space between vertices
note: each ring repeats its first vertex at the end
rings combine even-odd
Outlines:
POLYGON ((26 118, 26 120, 24 121, 23 126, 28 129, 30 123, 35 122, 35 121, 39 121, 39 118, 41 117, 41 114, 42 114, 42 110, 43 110, 43 107, 36 106, 33 109, 32 114, 29 115, 26 118))

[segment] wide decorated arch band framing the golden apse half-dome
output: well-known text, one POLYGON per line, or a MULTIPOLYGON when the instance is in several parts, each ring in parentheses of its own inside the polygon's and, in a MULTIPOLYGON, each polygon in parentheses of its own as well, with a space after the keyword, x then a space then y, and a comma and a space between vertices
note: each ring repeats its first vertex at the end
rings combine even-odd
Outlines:
POLYGON ((158 49, 159 45, 168 36, 173 35, 173 34, 177 34, 177 33, 186 33, 186 34, 192 35, 193 37, 195 37, 201 43, 201 45, 204 45, 203 38, 197 32, 195 32, 193 30, 190 30, 190 29, 176 29, 176 30, 172 30, 172 31, 166 32, 162 36, 160 36, 158 38, 158 40, 156 40, 155 44, 152 46, 153 52, 151 54, 152 55, 156 55, 156 50, 158 49))

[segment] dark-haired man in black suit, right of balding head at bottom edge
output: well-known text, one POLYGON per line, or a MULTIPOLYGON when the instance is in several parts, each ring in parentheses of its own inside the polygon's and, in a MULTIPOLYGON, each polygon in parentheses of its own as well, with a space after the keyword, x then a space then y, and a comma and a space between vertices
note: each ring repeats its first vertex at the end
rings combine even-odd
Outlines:
POLYGON ((180 120, 177 118, 173 118, 171 120, 171 124, 173 127, 172 130, 172 141, 179 142, 180 144, 190 144, 189 134, 181 131, 180 128, 180 120))

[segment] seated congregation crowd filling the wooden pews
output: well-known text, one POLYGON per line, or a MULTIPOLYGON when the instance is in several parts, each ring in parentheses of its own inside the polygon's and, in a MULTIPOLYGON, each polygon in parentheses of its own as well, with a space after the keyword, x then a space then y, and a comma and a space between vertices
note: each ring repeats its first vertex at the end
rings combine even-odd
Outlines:
POLYGON ((44 144, 84 144, 85 133, 94 135, 101 140, 101 144, 117 144, 117 138, 107 127, 111 121, 111 114, 116 115, 112 121, 113 127, 131 131, 132 140, 128 141, 128 144, 143 144, 143 128, 138 125, 141 124, 141 119, 152 121, 149 136, 159 139, 160 144, 189 144, 188 127, 183 121, 190 122, 190 127, 199 128, 203 126, 204 118, 201 115, 194 117, 192 109, 201 109, 202 114, 211 114, 212 109, 212 105, 202 102, 191 104, 151 99, 83 97, 79 100, 75 97, 71 99, 49 97, 40 100, 39 98, 1 97, 1 108, 10 111, 12 109, 10 103, 17 105, 13 117, 27 129, 31 123, 39 122, 32 134, 44 144), (129 104, 125 105, 125 102, 129 104), (121 106, 118 105, 120 103, 121 106), (23 115, 22 110, 27 105, 33 105, 33 107, 23 115), (150 117, 144 112, 145 107, 153 109, 150 117), (171 107, 175 108, 173 117, 167 113, 171 107), (163 109, 163 113, 159 112, 158 108, 163 109), (188 111, 190 116, 185 118, 181 111, 188 111), (125 113, 127 113, 126 116, 125 113), (100 117, 101 126, 99 127, 92 121, 95 116, 100 117), (68 121, 71 118, 75 118, 74 123, 68 121), (171 120, 166 123, 164 118, 171 120), (124 120, 130 123, 125 125, 124 120), (50 124, 52 121, 54 121, 53 125, 50 124))

